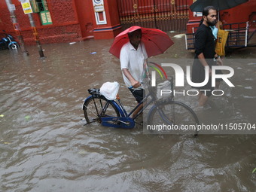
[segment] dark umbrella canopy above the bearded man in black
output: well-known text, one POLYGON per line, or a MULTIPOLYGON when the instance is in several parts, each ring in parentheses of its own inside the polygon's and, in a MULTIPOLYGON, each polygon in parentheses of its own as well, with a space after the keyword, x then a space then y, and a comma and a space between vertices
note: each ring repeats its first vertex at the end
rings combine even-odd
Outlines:
POLYGON ((218 11, 230 9, 248 2, 248 0, 197 0, 190 5, 190 10, 194 12, 202 12, 207 6, 214 6, 218 11))

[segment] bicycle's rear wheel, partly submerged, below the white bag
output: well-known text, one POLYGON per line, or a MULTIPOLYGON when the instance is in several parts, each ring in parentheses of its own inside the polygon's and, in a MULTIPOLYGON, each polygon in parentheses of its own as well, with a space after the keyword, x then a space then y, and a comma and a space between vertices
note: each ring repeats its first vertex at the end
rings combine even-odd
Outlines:
POLYGON ((120 117, 114 104, 105 99, 104 96, 91 97, 84 102, 83 110, 87 123, 101 123, 101 117, 120 117))

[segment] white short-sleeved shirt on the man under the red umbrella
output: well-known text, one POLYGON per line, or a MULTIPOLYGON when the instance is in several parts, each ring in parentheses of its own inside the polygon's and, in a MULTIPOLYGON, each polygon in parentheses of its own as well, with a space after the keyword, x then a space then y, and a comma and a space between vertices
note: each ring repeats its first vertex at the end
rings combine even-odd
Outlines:
MULTIPOLYGON (((130 74, 136 81, 143 81, 143 66, 145 59, 148 58, 147 51, 145 50, 145 45, 141 42, 138 49, 136 50, 130 41, 126 44, 123 44, 123 47, 120 50, 120 65, 121 69, 128 69, 130 74)), ((126 87, 131 87, 132 84, 123 75, 123 81, 126 84, 126 87)))

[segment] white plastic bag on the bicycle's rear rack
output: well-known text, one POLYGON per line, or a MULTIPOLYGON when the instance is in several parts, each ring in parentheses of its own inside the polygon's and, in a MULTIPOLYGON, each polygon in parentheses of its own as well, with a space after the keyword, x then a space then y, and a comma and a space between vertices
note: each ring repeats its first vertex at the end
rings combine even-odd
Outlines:
POLYGON ((99 92, 108 100, 114 100, 117 96, 118 90, 119 84, 117 83, 117 81, 114 81, 105 82, 104 84, 102 84, 102 87, 100 87, 99 92))

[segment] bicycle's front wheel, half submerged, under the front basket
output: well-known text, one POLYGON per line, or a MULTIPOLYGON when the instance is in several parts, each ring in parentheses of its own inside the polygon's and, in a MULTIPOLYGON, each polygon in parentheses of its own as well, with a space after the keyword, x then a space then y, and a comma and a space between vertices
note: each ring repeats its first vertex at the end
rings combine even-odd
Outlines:
POLYGON ((182 102, 163 100, 148 114, 148 125, 160 130, 159 133, 197 136, 197 124, 197 114, 182 102))

